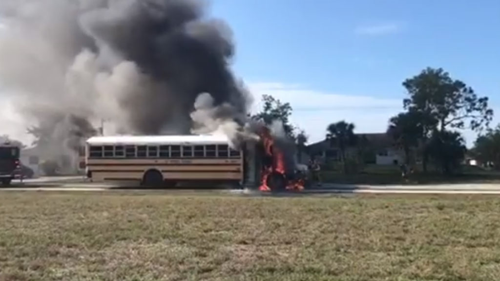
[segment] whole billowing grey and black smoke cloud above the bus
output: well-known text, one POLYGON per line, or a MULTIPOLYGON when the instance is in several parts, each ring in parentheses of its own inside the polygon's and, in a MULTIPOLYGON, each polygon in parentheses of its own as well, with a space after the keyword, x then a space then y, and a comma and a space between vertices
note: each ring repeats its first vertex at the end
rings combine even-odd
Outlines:
POLYGON ((3 94, 54 151, 100 119, 119 133, 254 138, 250 95, 229 68, 231 30, 206 10, 200 0, 2 0, 3 94))

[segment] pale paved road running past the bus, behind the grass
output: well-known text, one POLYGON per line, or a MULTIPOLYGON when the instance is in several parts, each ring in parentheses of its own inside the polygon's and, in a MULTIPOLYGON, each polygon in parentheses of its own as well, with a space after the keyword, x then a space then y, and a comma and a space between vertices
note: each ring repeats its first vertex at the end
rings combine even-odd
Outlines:
MULTIPOLYGON (((137 190, 133 185, 86 182, 82 176, 41 177, 16 181, 12 187, 0 190, 32 190, 32 191, 108 191, 108 190, 137 190)), ((141 189, 143 191, 143 189, 141 189)), ((192 190, 192 189, 177 189, 192 190)), ((201 189, 206 190, 206 189, 201 189)), ((158 191, 158 190, 155 190, 158 191)), ((172 192, 172 189, 164 189, 172 192)), ((220 192, 255 193, 249 189, 225 189, 220 192)), ((403 193, 403 194, 500 194, 500 185, 487 183, 463 184, 428 184, 428 185, 348 185, 323 184, 313 187, 303 193, 403 193)))

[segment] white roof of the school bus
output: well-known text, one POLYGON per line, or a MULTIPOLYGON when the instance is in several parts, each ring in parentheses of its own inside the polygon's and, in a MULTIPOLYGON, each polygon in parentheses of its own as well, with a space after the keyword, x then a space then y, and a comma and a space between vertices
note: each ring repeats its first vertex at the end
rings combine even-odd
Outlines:
POLYGON ((208 135, 117 135, 93 136, 86 141, 90 145, 140 145, 140 144, 221 144, 229 138, 223 134, 208 135))

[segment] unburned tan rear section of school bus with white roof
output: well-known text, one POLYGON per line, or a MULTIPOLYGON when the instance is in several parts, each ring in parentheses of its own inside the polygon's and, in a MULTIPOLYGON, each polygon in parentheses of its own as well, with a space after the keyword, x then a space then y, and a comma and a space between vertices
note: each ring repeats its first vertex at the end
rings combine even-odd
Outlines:
POLYGON ((243 153, 230 148, 225 135, 94 136, 85 157, 87 177, 96 181, 243 180, 243 153))

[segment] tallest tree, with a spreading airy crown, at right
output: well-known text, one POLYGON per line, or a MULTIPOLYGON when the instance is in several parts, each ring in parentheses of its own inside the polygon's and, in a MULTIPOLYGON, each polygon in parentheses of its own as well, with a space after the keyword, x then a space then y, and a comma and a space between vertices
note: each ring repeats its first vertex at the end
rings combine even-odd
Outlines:
POLYGON ((403 101, 404 107, 420 114, 424 171, 427 170, 429 153, 433 150, 429 141, 435 130, 444 132, 449 128, 470 128, 480 131, 493 116, 487 97, 479 97, 470 86, 452 79, 442 68, 427 67, 402 84, 409 95, 403 101))

